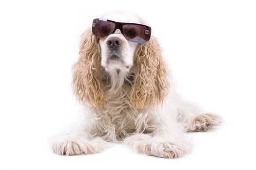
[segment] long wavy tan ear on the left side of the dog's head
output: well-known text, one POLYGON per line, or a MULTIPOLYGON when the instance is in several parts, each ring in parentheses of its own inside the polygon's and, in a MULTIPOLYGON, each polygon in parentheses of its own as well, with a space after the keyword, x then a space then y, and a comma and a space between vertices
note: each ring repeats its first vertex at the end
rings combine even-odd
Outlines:
POLYGON ((100 76, 100 48, 91 28, 81 35, 79 60, 73 66, 73 89, 78 99, 91 106, 105 102, 100 76))

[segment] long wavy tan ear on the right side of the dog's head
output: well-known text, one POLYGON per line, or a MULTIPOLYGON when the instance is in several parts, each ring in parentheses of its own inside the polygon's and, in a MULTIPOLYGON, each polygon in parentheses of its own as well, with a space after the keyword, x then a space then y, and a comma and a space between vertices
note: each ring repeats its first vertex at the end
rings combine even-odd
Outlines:
POLYGON ((167 71, 157 39, 141 43, 135 54, 137 73, 130 102, 137 108, 145 108, 162 102, 169 90, 167 71))

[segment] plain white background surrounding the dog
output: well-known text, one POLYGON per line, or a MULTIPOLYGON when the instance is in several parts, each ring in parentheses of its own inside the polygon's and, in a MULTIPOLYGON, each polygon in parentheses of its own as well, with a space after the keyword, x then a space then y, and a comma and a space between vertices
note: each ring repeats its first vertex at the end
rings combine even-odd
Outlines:
POLYGON ((255 170, 255 58, 254 0, 1 0, 0 169, 255 170), (51 152, 50 136, 82 113, 71 91, 79 36, 113 10, 144 18, 181 94, 225 120, 214 131, 189 134, 191 154, 161 159, 123 144, 94 155, 51 152))

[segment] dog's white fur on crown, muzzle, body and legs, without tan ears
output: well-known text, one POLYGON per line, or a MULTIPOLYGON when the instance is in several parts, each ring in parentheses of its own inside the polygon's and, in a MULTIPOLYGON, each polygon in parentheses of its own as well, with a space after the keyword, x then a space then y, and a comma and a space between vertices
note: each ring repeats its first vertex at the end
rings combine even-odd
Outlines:
MULTIPOLYGON (((135 23, 140 20, 130 13, 110 13, 102 18, 135 23)), ((89 119, 77 130, 56 141, 53 145, 55 153, 98 153, 104 149, 106 141, 113 141, 130 143, 138 153, 177 158, 191 149, 184 137, 187 128, 193 127, 194 130, 191 131, 197 131, 203 123, 209 127, 220 122, 220 119, 208 114, 210 118, 206 116, 193 124, 202 112, 194 104, 180 99, 173 86, 162 104, 146 109, 133 107, 129 100, 130 85, 126 75, 133 72, 133 56, 137 44, 128 42, 119 32, 101 39, 99 43, 101 66, 109 73, 111 80, 105 96, 107 103, 94 108, 86 106, 89 119), (106 41, 113 36, 125 42, 122 50, 123 63, 115 61, 108 64, 106 61, 106 41), (128 83, 124 83, 125 81, 128 83)))

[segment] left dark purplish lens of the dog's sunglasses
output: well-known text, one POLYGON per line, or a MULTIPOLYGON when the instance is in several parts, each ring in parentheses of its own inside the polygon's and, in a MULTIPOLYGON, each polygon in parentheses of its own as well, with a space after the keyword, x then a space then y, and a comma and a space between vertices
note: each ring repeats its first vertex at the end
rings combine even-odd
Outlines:
POLYGON ((93 22, 93 34, 99 37, 106 37, 113 33, 116 24, 104 20, 94 20, 93 22))

